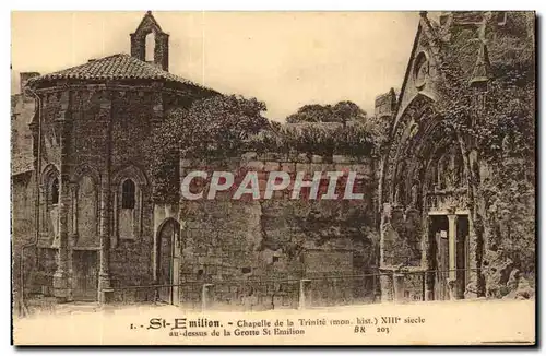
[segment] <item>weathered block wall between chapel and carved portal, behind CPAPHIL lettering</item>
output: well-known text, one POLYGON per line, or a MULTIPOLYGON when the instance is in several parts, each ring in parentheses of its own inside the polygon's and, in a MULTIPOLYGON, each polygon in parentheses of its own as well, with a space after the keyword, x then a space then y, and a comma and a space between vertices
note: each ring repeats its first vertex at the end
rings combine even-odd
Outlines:
MULTIPOLYGON (((247 309, 294 307, 298 281, 308 277, 322 280, 307 290, 314 305, 373 298, 372 283, 351 277, 375 271, 377 265, 371 158, 248 153, 207 162, 181 159, 181 179, 193 170, 209 171, 209 177, 214 170, 236 177, 256 171, 261 198, 246 194, 233 200, 233 190, 218 192, 215 200, 182 198, 180 282, 211 283, 216 305, 247 309), (263 199, 266 176, 275 170, 287 171, 293 180, 297 171, 310 173, 306 180, 314 171, 356 171, 354 192, 363 192, 364 199, 309 200, 304 189, 302 197, 293 200, 293 185, 263 199)), ((203 190, 206 197, 209 183, 202 181, 190 190, 203 190)), ((181 302, 195 304, 198 293, 180 290, 181 302), (188 300, 190 295, 193 300, 188 300)))

